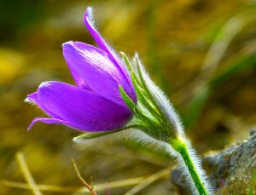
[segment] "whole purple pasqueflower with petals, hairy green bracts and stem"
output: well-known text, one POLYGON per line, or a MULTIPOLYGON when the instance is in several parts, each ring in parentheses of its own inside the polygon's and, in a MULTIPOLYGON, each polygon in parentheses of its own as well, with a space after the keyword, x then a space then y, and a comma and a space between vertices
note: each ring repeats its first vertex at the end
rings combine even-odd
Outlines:
POLYGON ((27 100, 50 118, 33 123, 63 123, 89 131, 73 141, 116 141, 129 139, 175 157, 193 194, 212 194, 200 160, 183 131, 177 113, 166 95, 154 84, 137 54, 122 59, 92 25, 90 9, 84 24, 99 48, 79 43, 63 44, 63 54, 76 86, 44 82, 27 100))

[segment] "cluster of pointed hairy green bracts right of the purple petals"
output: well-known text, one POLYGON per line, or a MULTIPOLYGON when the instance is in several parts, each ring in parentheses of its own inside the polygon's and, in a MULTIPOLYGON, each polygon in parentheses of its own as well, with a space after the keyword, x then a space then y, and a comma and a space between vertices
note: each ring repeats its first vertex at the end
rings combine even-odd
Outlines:
POLYGON ((170 138, 177 137, 175 123, 170 123, 166 114, 161 109, 160 97, 150 89, 146 72, 143 69, 137 55, 133 59, 133 64, 128 60, 124 53, 121 53, 125 60, 125 64, 131 73, 131 81, 137 92, 137 106, 131 98, 126 95, 124 89, 119 85, 120 93, 125 103, 133 112, 133 123, 136 123, 139 129, 146 134, 154 137, 156 140, 169 141, 170 138))

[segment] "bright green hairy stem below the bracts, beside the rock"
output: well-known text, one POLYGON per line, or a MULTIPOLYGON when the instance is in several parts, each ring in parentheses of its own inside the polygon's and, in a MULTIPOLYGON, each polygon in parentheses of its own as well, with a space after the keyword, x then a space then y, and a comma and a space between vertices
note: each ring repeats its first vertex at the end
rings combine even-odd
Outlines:
POLYGON ((194 181, 195 187, 200 195, 208 195, 207 189, 204 186, 201 176, 198 174, 198 170, 195 168, 195 163, 193 162, 188 146, 185 141, 177 137, 171 141, 172 148, 179 152, 183 158, 184 163, 186 164, 189 174, 191 175, 192 180, 194 181))

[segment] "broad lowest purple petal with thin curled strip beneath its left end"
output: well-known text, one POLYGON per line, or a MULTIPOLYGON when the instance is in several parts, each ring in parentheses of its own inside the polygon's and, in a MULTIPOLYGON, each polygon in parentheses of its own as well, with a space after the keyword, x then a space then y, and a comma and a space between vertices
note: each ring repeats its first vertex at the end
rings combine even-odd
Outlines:
POLYGON ((74 129, 86 131, 119 129, 131 118, 131 112, 125 106, 119 106, 89 90, 67 83, 42 83, 38 88, 38 100, 38 106, 51 117, 55 117, 50 120, 38 118, 35 119, 36 121, 60 122, 74 129))

